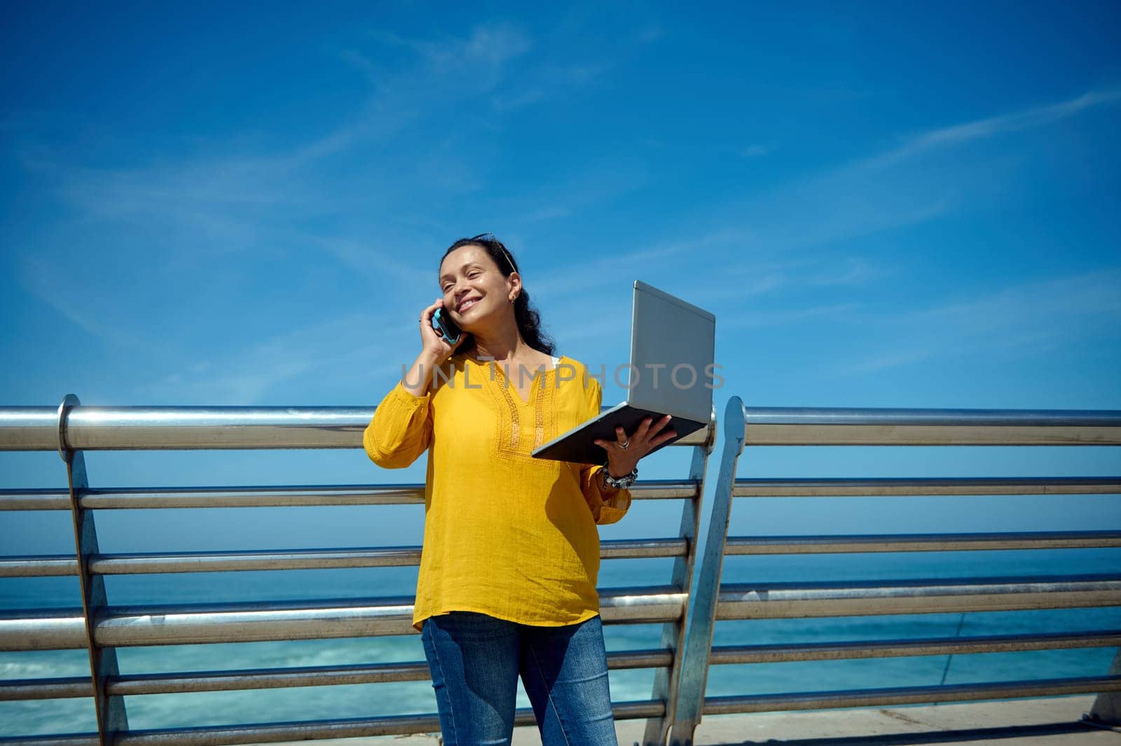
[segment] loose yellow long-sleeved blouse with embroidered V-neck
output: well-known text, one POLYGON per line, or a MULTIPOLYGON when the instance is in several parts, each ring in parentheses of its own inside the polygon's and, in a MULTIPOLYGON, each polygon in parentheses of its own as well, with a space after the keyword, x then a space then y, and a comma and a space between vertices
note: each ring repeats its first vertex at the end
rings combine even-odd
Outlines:
POLYGON ((429 451, 417 630, 448 612, 545 626, 599 614, 595 524, 621 519, 631 495, 604 489, 602 466, 530 456, 600 413, 600 382, 571 357, 553 360, 528 401, 501 364, 455 354, 425 395, 398 382, 378 404, 363 436, 378 466, 405 468, 429 451))

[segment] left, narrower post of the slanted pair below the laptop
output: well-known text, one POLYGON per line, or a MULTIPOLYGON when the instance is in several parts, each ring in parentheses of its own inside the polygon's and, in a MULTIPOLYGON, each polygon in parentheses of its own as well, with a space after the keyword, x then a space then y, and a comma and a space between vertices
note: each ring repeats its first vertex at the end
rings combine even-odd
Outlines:
MULTIPOLYGON (((687 599, 692 599, 691 585, 693 582, 693 569, 696 562, 697 537, 701 531, 701 507, 704 498, 704 477, 708 468, 708 457, 716 445, 716 410, 713 409, 708 422, 708 439, 693 448, 693 461, 689 464, 689 479, 696 484, 697 493, 689 500, 683 501, 682 523, 677 532, 678 538, 686 542, 685 557, 674 559, 674 571, 670 585, 680 588, 687 599)), ((654 692, 650 699, 666 702, 666 714, 660 718, 650 718, 646 721, 646 734, 642 736, 645 746, 663 746, 666 743, 666 735, 669 724, 674 721, 677 710, 678 681, 682 675, 682 664, 685 656, 685 631, 688 621, 689 602, 686 602, 682 618, 661 625, 661 647, 674 651, 674 661, 668 669, 657 669, 654 674, 654 692)))

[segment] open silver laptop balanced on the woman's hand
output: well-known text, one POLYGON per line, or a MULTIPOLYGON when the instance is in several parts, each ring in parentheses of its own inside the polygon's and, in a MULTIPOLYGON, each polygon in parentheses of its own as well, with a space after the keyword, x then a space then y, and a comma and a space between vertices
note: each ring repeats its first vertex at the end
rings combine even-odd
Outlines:
MULTIPOLYGON (((712 416, 715 345, 715 316, 634 280, 627 400, 534 449, 534 458, 603 464, 608 454, 594 440, 617 440, 615 426, 622 426, 628 436, 633 435, 647 417, 657 422, 670 414, 673 419, 664 430, 677 433, 654 450, 707 427, 712 416)), ((599 373, 599 365, 590 365, 589 372, 599 373)), ((614 364, 609 362, 601 384, 614 375, 614 364)), ((621 372, 619 377, 622 379, 621 372)))

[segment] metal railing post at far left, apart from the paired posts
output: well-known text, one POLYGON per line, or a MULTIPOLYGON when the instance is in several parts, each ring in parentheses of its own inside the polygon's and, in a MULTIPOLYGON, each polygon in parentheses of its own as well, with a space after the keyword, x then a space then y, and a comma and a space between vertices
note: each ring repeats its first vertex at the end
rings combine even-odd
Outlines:
POLYGON ((98 715, 98 737, 102 746, 111 746, 119 733, 128 730, 124 698, 110 697, 105 692, 105 679, 117 677, 117 651, 99 647, 94 641, 94 622, 98 609, 105 606, 105 580, 100 575, 90 574, 89 558, 98 553, 98 530, 93 512, 82 507, 82 492, 90 486, 85 473, 82 451, 74 450, 66 442, 66 420, 70 410, 80 405, 77 397, 66 394, 58 407, 58 455, 66 463, 66 481, 70 487, 71 515, 74 519, 74 547, 77 552, 78 580, 82 588, 82 614, 85 617, 85 637, 90 651, 90 674, 93 681, 93 703, 98 715))

